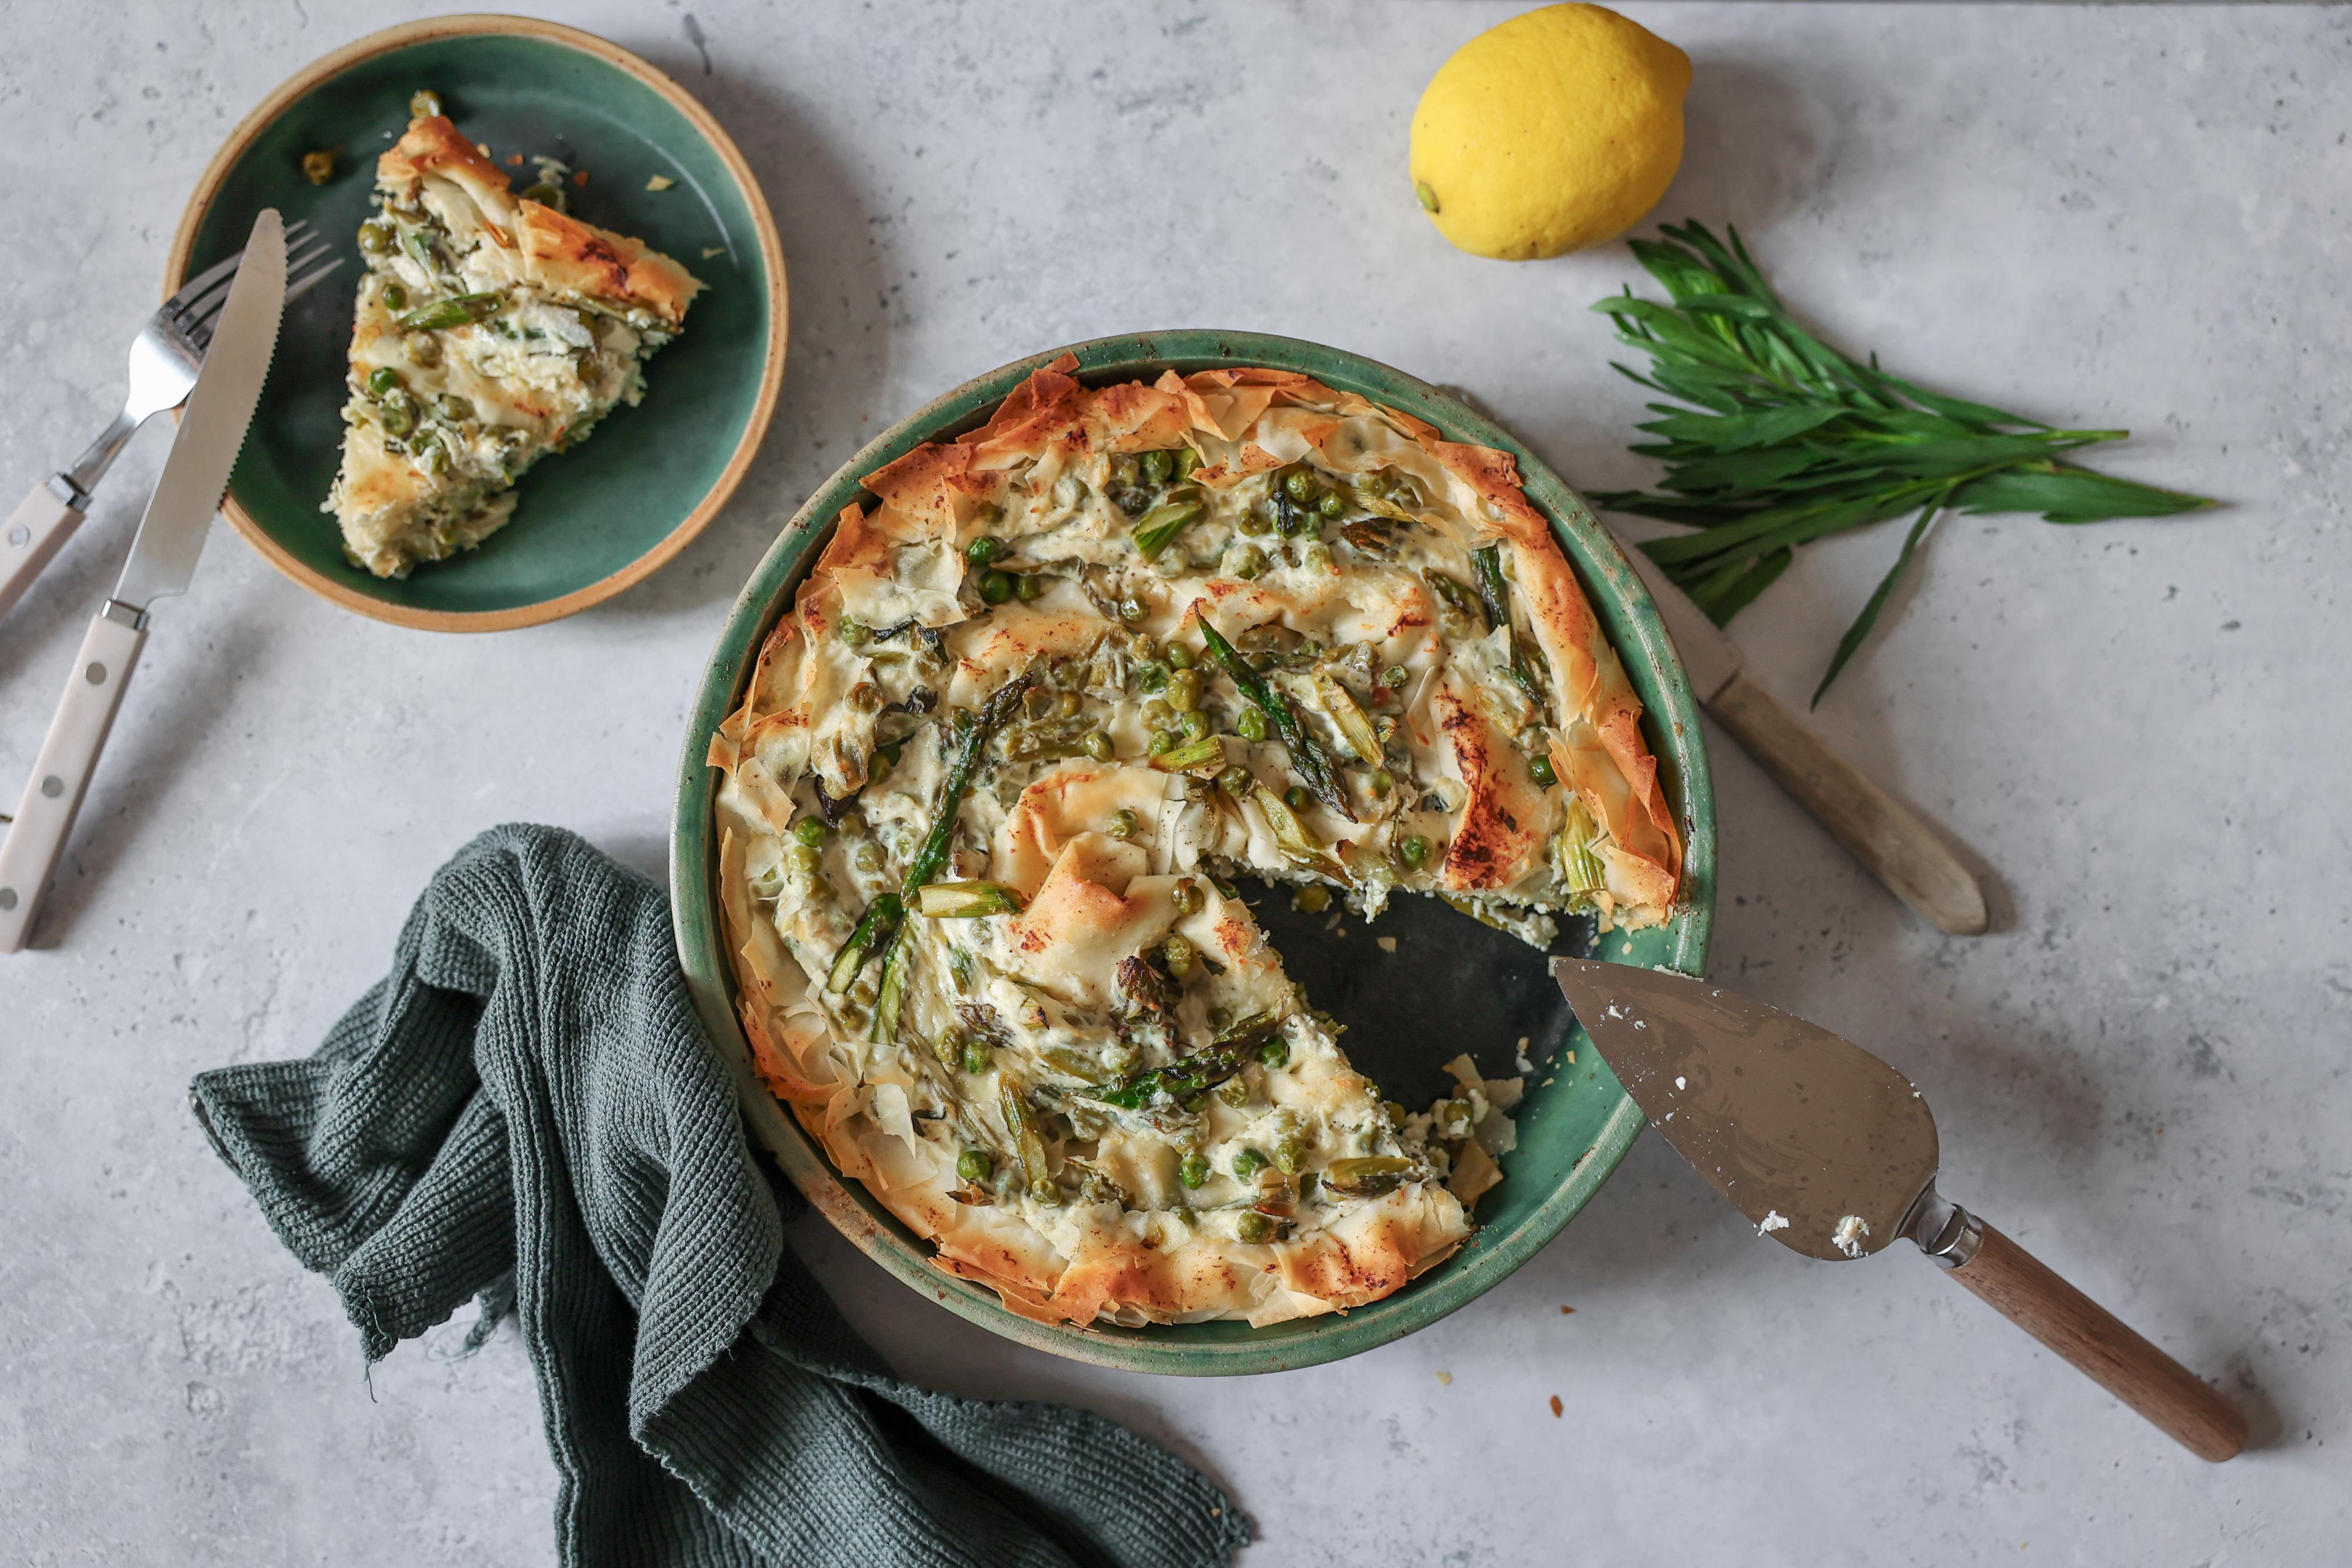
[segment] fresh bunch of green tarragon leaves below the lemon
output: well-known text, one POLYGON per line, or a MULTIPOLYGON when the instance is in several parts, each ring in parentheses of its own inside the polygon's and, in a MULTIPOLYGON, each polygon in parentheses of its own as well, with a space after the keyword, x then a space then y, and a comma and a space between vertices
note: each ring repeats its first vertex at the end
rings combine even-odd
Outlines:
POLYGON ((1726 625, 1797 545, 1917 515, 1893 567, 1837 642, 1813 703, 1863 646, 1929 524, 1947 510, 2042 512, 2046 522, 2166 517, 2216 505, 2070 463, 2065 454, 2129 430, 2058 430, 2023 414, 1943 397, 1837 353, 1780 306, 1736 228, 1729 247, 1700 223, 1635 240, 1635 259, 1670 306, 1623 296, 1595 310, 1649 374, 1616 369, 1682 404, 1653 402, 1632 447, 1665 463, 1658 491, 1597 491, 1595 505, 1689 527, 1646 545, 1665 574, 1726 625))

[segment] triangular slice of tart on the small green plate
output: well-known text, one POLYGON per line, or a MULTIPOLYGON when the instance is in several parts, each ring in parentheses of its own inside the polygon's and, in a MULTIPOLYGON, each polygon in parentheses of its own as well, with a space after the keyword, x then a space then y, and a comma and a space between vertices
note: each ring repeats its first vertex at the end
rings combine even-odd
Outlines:
MULTIPOLYGON (((421 94, 423 96, 423 94, 421 94)), ((480 545, 515 480, 644 397, 644 360, 701 292, 682 266, 517 197, 440 113, 376 160, 376 216, 353 310, 343 465, 320 510, 343 555, 407 576, 480 545)))

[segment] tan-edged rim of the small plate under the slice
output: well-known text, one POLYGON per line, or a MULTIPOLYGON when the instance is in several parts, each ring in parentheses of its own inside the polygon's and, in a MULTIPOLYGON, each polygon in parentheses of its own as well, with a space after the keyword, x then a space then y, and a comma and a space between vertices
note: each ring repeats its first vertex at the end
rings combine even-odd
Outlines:
MULTIPOLYGON (((654 94, 659 94, 670 108, 684 118, 694 134, 720 158, 731 176, 736 193, 750 214, 753 233, 760 240, 760 263, 767 273, 767 343, 760 374, 760 393, 743 421, 743 430, 736 437, 736 447, 729 454, 720 475, 710 482, 694 508, 663 534, 654 545, 640 552, 635 559, 621 569, 602 576, 593 583, 574 588, 548 599, 532 604, 513 604, 506 609, 480 609, 480 611, 452 611, 452 609, 423 609, 412 604, 393 604, 374 595, 360 592, 350 583, 336 581, 318 571, 310 562, 289 552, 282 543, 259 520, 238 501, 235 484, 221 498, 221 515, 238 529, 238 534, 249 543, 266 562, 278 567, 285 576, 294 578, 310 592, 339 604, 343 609, 358 611, 374 621, 388 621, 393 625, 407 625, 430 632, 499 632, 522 625, 539 625, 546 621, 560 621, 574 616, 593 604, 602 604, 616 592, 633 588, 661 567, 666 567, 680 550, 684 550, 694 538, 710 527, 710 520, 727 505, 736 487, 743 482, 753 456, 760 451, 760 442, 767 437, 767 428, 776 414, 776 395, 783 386, 783 357, 788 341, 788 289, 783 268, 783 242, 776 235, 776 219, 769 212, 767 195, 760 190, 757 176, 753 176, 750 165, 743 160, 741 148, 724 127, 710 115, 703 103, 689 94, 675 78, 642 59, 640 54, 623 49, 621 45, 597 38, 595 33, 564 26, 560 21, 541 21, 534 16, 503 16, 494 12, 466 12, 452 16, 428 16, 421 21, 407 21, 400 26, 381 28, 367 33, 341 49, 332 49, 285 82, 270 89, 221 141, 219 150, 205 165, 198 176, 195 188, 188 195, 188 205, 181 209, 179 228, 172 235, 172 249, 165 259, 162 296, 169 299, 188 273, 188 256, 195 249, 198 230, 212 209, 214 197, 221 186, 242 162, 245 153, 268 132, 280 115, 308 99, 322 85, 334 78, 362 66, 379 54, 390 54, 393 49, 407 49, 421 42, 452 40, 452 38, 522 38, 534 42, 548 42, 557 47, 579 49, 607 66, 623 71, 635 78, 654 94)), ((350 287, 350 268, 336 270, 322 287, 350 287)), ((176 418, 176 416, 174 416, 176 418)), ((327 527, 327 515, 320 512, 322 527, 327 527)), ((452 564, 461 564, 459 562, 452 564)))

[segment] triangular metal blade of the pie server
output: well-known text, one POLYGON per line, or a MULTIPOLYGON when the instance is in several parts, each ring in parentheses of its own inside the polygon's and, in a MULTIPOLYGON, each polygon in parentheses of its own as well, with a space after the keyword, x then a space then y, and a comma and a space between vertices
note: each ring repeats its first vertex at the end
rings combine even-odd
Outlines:
POLYGON ((1865 1258, 1936 1185, 1936 1119, 1900 1072, 1820 1025, 1708 980, 1552 959, 1625 1093, 1766 1237, 1865 1258))

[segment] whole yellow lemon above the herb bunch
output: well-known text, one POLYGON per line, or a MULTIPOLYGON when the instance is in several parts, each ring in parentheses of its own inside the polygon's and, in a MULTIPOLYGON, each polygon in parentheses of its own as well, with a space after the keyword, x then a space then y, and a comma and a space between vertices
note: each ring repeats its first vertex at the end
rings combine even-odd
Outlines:
POLYGON ((1475 256, 1599 244, 1682 165, 1691 56, 1599 5, 1548 5, 1454 52, 1414 110, 1414 195, 1475 256))

